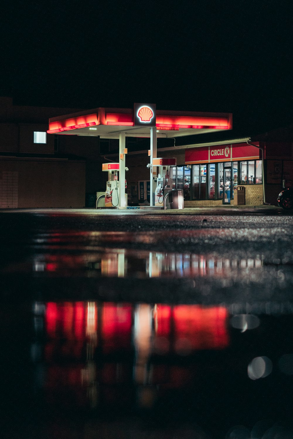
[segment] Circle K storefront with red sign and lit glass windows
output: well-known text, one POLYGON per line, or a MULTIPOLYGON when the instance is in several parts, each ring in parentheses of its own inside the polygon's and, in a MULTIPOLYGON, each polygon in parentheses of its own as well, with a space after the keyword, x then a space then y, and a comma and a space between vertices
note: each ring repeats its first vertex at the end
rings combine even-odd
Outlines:
POLYGON ((234 204, 237 186, 245 187, 246 205, 264 203, 262 151, 245 140, 185 149, 185 165, 173 169, 173 178, 186 207, 234 204))

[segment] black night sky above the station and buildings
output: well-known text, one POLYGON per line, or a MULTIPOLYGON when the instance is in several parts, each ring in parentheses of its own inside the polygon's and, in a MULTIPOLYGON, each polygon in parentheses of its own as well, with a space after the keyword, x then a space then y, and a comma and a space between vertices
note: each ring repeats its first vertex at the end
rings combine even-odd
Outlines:
POLYGON ((4 1, 0 95, 14 104, 232 112, 292 123, 291 1, 4 1))

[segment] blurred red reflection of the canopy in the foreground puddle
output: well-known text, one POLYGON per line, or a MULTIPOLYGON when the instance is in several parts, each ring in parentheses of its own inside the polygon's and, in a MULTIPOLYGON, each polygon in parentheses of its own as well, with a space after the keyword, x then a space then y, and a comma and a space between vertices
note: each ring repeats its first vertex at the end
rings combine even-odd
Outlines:
POLYGON ((43 359, 42 387, 50 398, 63 393, 65 406, 152 407, 159 391, 188 385, 193 367, 183 358, 229 344, 221 306, 47 302, 34 314, 32 359, 43 359))

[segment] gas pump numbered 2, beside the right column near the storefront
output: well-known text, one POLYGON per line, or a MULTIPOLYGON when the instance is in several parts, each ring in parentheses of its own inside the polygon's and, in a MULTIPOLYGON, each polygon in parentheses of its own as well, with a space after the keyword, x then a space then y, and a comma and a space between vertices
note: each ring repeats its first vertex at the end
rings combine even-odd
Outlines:
POLYGON ((153 158, 154 166, 157 167, 155 206, 163 206, 165 195, 172 190, 172 166, 176 166, 176 158, 153 158))

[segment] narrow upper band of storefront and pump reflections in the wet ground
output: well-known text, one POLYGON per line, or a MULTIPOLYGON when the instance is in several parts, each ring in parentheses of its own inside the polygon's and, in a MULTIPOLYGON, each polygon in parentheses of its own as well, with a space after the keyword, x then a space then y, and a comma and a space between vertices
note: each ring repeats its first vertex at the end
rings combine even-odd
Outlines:
MULTIPOLYGON (((261 270, 262 259, 179 252, 144 252, 111 249, 81 255, 39 255, 33 271, 47 276, 87 277, 229 277, 231 273, 261 270)), ((19 267, 18 267, 19 268, 19 267)))

